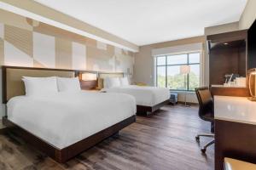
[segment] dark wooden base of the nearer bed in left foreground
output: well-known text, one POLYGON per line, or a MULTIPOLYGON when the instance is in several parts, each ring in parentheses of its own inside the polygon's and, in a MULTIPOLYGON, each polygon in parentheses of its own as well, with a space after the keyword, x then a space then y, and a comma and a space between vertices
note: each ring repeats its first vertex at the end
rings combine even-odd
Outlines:
POLYGON ((107 139, 112 135, 117 135, 119 130, 129 126, 133 122, 136 122, 136 116, 131 116, 122 122, 118 122, 101 132, 95 133, 86 139, 82 139, 79 142, 60 150, 32 133, 27 132, 25 129, 15 125, 15 123, 10 122, 6 117, 3 118, 3 123, 9 127, 8 132, 20 137, 20 139, 24 139, 28 144, 32 144, 34 147, 38 148, 38 150, 43 151, 47 156, 60 163, 64 163, 74 156, 79 155, 84 150, 90 149, 90 147, 101 142, 103 139, 107 139))

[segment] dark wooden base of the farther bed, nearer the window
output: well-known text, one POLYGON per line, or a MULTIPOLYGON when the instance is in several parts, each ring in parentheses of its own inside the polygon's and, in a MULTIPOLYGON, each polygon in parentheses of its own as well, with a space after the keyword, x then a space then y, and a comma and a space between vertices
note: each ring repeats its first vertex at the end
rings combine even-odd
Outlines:
POLYGON ((160 107, 169 104, 170 101, 167 99, 166 101, 161 102, 160 104, 153 106, 145 106, 145 105, 137 105, 137 116, 149 116, 160 109, 160 107))

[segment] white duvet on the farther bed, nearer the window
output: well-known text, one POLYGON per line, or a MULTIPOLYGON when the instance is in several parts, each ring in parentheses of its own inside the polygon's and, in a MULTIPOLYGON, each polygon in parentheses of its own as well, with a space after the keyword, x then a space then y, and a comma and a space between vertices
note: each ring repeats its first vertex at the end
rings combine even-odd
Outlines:
POLYGON ((129 85, 114 88, 103 88, 102 91, 130 94, 135 97, 137 105, 145 106, 157 105, 170 98, 170 91, 168 88, 129 85))

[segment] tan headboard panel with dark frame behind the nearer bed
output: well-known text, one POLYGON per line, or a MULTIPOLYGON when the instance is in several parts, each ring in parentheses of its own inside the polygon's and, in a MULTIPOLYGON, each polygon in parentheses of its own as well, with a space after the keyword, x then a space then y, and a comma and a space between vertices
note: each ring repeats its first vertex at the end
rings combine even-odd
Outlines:
POLYGON ((25 94, 22 77, 75 77, 76 74, 73 70, 2 66, 3 103, 25 94))

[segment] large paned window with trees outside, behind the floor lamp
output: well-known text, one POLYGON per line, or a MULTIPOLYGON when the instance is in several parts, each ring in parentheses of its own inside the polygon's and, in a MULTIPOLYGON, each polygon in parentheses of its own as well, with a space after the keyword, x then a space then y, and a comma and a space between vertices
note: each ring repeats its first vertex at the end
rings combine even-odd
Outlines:
POLYGON ((200 53, 156 56, 156 85, 172 90, 194 91, 200 84, 200 53), (190 73, 181 74, 182 65, 189 65, 190 73))

